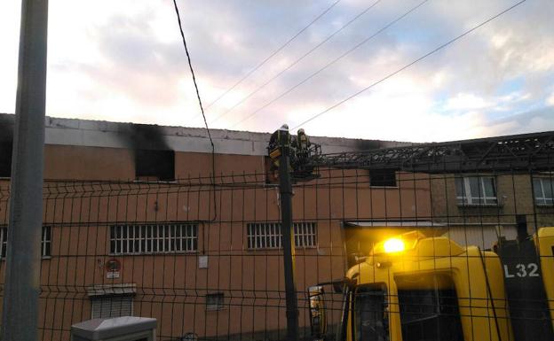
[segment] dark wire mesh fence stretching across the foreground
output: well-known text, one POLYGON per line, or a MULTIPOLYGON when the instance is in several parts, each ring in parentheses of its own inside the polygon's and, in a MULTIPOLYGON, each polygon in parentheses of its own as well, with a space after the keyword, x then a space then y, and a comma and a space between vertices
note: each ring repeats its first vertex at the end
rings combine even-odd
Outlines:
MULTIPOLYGON (((269 177, 45 182, 41 339, 130 314, 156 318, 159 340, 284 339, 280 193, 269 177)), ((2 259, 9 185, 0 180, 2 259)), ((548 171, 505 169, 329 168, 296 182, 299 338, 547 339, 553 185, 548 171)))

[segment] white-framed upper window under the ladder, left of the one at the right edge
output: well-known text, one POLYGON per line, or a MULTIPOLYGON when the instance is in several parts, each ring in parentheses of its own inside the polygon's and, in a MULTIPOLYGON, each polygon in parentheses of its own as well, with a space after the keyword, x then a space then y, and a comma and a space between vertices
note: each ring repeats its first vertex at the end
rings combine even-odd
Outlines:
POLYGON ((496 185, 496 177, 494 175, 471 174, 471 175, 456 175, 455 176, 455 198, 458 206, 498 206, 498 186, 496 185), (471 179, 477 178, 479 182, 480 193, 471 193, 471 179), (495 195, 487 196, 485 180, 491 180, 495 195), (463 193, 458 193, 458 181, 462 181, 463 193), (480 202, 479 202, 480 201, 480 202), (490 202, 489 202, 490 201, 490 202))

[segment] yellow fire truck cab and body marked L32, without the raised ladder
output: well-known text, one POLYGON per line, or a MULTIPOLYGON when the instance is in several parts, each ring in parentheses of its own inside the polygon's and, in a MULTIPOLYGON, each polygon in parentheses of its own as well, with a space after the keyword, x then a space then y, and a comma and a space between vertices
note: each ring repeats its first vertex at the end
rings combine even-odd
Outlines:
POLYGON ((335 281, 308 288, 313 337, 336 341, 554 340, 554 228, 490 251, 412 231, 374 245, 335 281), (327 299, 326 299, 327 298, 327 299), (329 328, 330 329, 330 328, 329 328), (333 334, 333 336, 331 336, 333 334))

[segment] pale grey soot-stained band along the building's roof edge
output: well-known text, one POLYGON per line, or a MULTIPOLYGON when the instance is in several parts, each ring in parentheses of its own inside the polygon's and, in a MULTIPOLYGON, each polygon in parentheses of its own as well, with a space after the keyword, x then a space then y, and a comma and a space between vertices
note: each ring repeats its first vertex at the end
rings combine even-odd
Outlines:
MULTIPOLYGON (((14 115, 0 113, 0 132, 13 126, 14 115)), ((104 120, 77 120, 46 117, 45 143, 108 148, 130 148, 130 135, 135 128, 147 128, 148 134, 162 137, 173 151, 210 152, 211 145, 206 129, 142 125, 104 120)), ((210 129, 217 153, 241 155, 266 155, 271 134, 210 129)), ((309 132, 308 132, 309 133, 309 132)), ((352 138, 310 136, 313 143, 320 143, 324 153, 361 151, 407 145, 396 141, 362 140, 352 138)))

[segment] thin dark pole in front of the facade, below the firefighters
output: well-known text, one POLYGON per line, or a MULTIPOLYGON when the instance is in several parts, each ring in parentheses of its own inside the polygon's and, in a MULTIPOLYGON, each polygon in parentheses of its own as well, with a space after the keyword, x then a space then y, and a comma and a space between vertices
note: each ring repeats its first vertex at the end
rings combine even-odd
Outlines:
POLYGON ((292 225, 292 183, 290 181, 289 128, 279 129, 279 189, 281 193, 281 235, 285 270, 285 294, 287 302, 287 340, 298 340, 297 282, 295 280, 295 243, 292 225))

